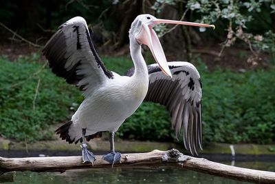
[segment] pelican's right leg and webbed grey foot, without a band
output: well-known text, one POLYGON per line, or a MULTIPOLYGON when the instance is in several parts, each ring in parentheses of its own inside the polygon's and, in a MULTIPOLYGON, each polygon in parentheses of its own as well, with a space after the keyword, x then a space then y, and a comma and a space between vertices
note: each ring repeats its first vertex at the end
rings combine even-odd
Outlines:
POLYGON ((120 152, 115 152, 114 137, 115 137, 115 132, 110 132, 109 141, 110 141, 110 150, 111 150, 111 152, 109 152, 109 154, 104 154, 102 156, 102 159, 104 159, 105 161, 111 163, 112 167, 113 167, 114 163, 120 162, 120 158, 121 158, 121 153, 120 152))

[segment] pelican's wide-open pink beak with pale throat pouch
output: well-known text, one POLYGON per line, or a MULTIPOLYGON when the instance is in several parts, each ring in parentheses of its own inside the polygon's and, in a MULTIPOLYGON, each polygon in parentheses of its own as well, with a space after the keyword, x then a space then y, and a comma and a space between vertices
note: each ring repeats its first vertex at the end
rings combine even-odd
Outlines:
POLYGON ((147 45, 148 48, 151 50, 155 61, 159 64, 159 67, 162 69, 164 74, 170 76, 172 78, 172 74, 168 67, 168 63, 166 61, 166 57, 164 55, 164 51, 162 49, 162 45, 157 38, 157 34, 153 30, 153 26, 159 23, 173 23, 173 24, 181 24, 181 25, 192 25, 192 26, 199 26, 199 27, 206 27, 206 28, 214 28, 214 25, 208 25, 204 23, 192 23, 186 21, 172 21, 166 19, 154 19, 149 23, 144 23, 142 25, 142 30, 137 34, 135 37, 139 43, 147 45))

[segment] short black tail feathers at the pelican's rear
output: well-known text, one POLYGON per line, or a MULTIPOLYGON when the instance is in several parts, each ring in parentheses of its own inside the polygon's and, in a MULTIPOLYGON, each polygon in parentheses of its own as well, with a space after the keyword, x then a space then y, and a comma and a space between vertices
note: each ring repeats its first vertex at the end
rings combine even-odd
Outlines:
MULTIPOLYGON (((58 127, 58 129, 56 129, 56 134, 60 134, 60 138, 62 140, 66 140, 69 144, 71 143, 78 143, 78 141, 80 141, 80 143, 83 142, 83 139, 71 139, 71 136, 69 136, 69 129, 72 125, 72 121, 69 121, 67 123, 65 123, 64 125, 62 125, 61 127, 58 127)), ((96 132, 96 134, 91 134, 91 135, 87 135, 86 137, 86 141, 90 141, 91 139, 94 138, 100 138, 102 137, 102 132, 96 132)))

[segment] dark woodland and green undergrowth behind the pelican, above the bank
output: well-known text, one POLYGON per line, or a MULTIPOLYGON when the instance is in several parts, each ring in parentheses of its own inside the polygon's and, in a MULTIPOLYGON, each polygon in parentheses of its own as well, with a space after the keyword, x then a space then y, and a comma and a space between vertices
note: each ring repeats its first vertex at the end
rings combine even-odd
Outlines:
MULTIPOLYGON (((266 144, 275 152, 275 2, 268 0, 0 0, 0 136, 56 140, 56 127, 83 101, 41 55, 59 25, 84 17, 102 61, 124 74, 133 66, 129 28, 144 13, 216 25, 155 28, 168 61, 189 61, 201 74, 204 144, 266 144)), ((143 54, 148 64, 155 62, 145 47, 143 54)), ((174 134, 166 110, 151 103, 117 133, 126 140, 177 142, 174 134)))

